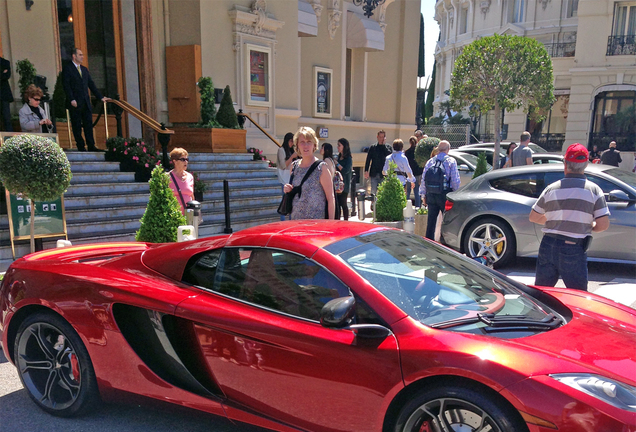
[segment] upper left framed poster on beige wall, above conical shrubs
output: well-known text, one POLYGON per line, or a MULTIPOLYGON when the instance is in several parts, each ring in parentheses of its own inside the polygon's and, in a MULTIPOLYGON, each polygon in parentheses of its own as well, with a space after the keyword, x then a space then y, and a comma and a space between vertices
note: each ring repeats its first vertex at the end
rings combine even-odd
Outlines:
POLYGON ((271 106, 272 51, 270 48, 251 44, 246 44, 246 48, 246 103, 253 106, 271 106))

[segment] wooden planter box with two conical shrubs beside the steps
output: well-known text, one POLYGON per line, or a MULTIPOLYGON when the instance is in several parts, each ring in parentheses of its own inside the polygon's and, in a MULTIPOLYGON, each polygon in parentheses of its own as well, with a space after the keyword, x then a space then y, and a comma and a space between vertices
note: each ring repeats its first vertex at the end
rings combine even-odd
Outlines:
POLYGON ((197 85, 201 94, 201 121, 192 127, 175 127, 170 144, 174 147, 183 147, 189 152, 245 153, 247 131, 238 126, 230 87, 225 88, 217 113, 212 79, 199 78, 197 85))

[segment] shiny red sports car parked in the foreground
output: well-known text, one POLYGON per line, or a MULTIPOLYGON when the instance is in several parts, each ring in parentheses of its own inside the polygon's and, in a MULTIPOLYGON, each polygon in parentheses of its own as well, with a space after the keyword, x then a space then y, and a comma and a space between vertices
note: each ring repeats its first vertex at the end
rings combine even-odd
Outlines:
POLYGON ((636 431, 636 311, 369 224, 47 250, 0 314, 60 416, 125 392, 279 431, 636 431))

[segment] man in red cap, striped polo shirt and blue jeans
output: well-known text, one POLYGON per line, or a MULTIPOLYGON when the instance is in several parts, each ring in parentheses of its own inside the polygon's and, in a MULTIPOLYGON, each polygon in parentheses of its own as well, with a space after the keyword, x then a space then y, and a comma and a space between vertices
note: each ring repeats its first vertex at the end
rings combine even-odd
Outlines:
POLYGON ((535 285, 555 286, 559 275, 568 288, 587 291, 587 247, 592 232, 609 228, 603 191, 585 177, 587 149, 572 144, 565 152, 565 178, 547 186, 530 212, 530 222, 545 225, 539 246, 535 285))

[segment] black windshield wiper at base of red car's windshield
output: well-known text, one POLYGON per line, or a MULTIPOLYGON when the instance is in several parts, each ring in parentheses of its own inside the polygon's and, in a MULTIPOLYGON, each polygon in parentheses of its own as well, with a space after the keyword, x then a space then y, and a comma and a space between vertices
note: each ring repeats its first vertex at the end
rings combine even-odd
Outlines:
POLYGON ((442 321, 440 323, 431 324, 430 326, 433 328, 445 329, 464 324, 475 324, 478 322, 483 322, 487 325, 487 327, 484 328, 487 332, 515 331, 520 329, 553 330, 563 324, 563 320, 554 314, 548 314, 542 320, 536 320, 528 318, 525 315, 496 316, 492 313, 478 313, 477 316, 442 321))

